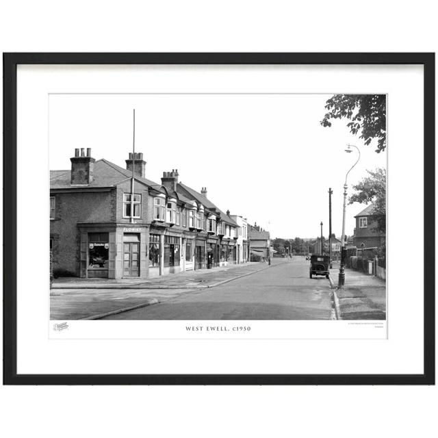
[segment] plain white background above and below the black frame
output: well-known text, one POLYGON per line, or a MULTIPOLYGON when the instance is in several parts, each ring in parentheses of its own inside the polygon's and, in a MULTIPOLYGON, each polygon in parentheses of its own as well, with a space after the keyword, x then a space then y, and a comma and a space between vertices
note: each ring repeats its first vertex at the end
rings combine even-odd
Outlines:
MULTIPOLYGON (((431 2, 14 2, 3 51, 436 51, 431 2)), ((407 278, 407 282, 413 279, 407 278)), ((408 437, 435 387, 6 387, 11 437, 408 437)))

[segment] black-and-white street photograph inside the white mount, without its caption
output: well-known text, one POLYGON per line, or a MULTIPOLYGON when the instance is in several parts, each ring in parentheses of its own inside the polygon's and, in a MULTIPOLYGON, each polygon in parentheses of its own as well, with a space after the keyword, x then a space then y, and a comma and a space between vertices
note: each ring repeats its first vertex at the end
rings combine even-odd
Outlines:
POLYGON ((50 94, 49 167, 53 321, 387 320, 385 94, 50 94))

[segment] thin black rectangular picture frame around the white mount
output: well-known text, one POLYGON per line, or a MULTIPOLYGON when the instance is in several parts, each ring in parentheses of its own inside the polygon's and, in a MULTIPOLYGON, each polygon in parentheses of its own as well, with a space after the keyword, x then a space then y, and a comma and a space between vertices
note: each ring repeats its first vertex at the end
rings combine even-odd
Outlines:
POLYGON ((3 383, 5 385, 434 385, 435 53, 3 53, 3 383), (19 64, 421 64, 424 66, 422 374, 17 374, 16 110, 19 64), (7 212, 7 214, 6 214, 7 212))

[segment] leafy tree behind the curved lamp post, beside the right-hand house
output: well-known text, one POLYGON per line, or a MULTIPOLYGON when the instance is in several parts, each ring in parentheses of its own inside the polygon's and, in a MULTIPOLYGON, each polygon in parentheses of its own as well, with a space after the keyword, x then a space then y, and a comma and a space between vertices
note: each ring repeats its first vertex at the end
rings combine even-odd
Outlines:
POLYGON ((377 229, 382 233, 386 232, 386 170, 376 168, 367 170, 368 177, 365 177, 353 185, 355 193, 350 196, 348 203, 368 204, 374 203, 373 214, 376 216, 377 229))

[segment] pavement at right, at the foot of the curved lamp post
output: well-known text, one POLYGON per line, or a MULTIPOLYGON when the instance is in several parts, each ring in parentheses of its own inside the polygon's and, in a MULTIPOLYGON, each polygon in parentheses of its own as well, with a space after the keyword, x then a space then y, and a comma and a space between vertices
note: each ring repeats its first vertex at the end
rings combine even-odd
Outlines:
POLYGON ((345 269, 345 285, 337 288, 339 263, 333 263, 330 283, 337 319, 339 320, 385 320, 386 282, 376 276, 345 269))

